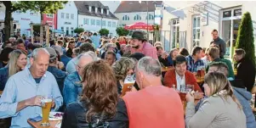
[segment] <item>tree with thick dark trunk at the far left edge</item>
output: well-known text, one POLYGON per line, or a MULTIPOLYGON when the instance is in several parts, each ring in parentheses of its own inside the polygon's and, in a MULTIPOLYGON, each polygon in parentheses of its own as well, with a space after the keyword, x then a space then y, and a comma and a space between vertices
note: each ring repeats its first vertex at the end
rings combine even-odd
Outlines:
POLYGON ((5 41, 9 40, 9 37, 11 36, 11 31, 13 28, 12 22, 13 18, 12 18, 12 14, 14 11, 19 10, 19 9, 23 9, 24 11, 26 11, 26 9, 24 8, 24 6, 15 3, 15 2, 11 2, 11 1, 3 1, 1 2, 3 3, 3 5, 5 6, 5 17, 4 17, 4 39, 5 41))

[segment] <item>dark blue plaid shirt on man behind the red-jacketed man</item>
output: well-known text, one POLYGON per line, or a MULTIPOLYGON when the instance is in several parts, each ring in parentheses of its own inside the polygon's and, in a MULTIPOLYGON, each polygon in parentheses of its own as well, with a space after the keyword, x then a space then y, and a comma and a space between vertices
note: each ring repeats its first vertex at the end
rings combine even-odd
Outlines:
POLYGON ((196 61, 196 63, 194 63, 194 59, 192 58, 191 55, 189 55, 185 58, 186 58, 186 61, 188 62, 187 68, 186 68, 187 70, 189 70, 191 72, 197 72, 197 70, 205 68, 205 65, 204 65, 202 59, 199 59, 196 61))

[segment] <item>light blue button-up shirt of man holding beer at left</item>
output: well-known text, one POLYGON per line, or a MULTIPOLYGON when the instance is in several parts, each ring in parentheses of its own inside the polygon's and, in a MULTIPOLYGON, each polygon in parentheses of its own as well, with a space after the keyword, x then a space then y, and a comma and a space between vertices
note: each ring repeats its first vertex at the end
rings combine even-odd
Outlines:
POLYGON ((37 117, 37 113, 42 114, 42 108, 28 106, 19 112, 16 112, 16 109, 19 102, 35 96, 52 96, 55 101, 53 110, 59 109, 63 102, 54 75, 48 71, 38 84, 28 68, 12 75, 0 98, 0 119, 12 117, 10 128, 31 127, 27 120, 37 117))

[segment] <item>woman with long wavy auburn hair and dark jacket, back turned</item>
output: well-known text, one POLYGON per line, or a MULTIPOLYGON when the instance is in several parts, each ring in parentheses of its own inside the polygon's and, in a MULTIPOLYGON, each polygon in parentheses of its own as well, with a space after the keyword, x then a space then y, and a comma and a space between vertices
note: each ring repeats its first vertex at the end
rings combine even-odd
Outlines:
POLYGON ((65 109, 61 128, 77 127, 128 128, 127 109, 118 97, 115 74, 103 60, 85 66, 81 101, 65 109))

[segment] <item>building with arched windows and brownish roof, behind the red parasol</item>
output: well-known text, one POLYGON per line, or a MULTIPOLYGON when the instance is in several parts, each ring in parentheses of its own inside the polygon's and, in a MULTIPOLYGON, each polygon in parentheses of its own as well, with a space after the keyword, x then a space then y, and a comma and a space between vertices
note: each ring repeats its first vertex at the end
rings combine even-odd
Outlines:
POLYGON ((122 1, 115 11, 118 25, 131 25, 136 22, 144 22, 145 24, 154 24, 155 5, 162 4, 161 1, 122 1), (147 20, 147 14, 149 19, 147 20))

